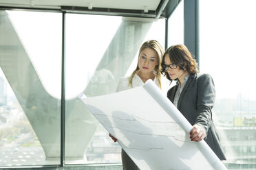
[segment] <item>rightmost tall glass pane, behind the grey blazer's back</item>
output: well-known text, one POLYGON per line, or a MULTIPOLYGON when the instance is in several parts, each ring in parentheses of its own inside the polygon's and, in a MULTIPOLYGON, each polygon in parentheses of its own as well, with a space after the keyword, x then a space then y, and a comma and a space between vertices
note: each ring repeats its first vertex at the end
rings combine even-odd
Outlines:
POLYGON ((200 1, 200 70, 215 81, 215 122, 225 162, 236 169, 256 164, 255 6, 200 1))

